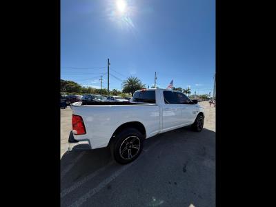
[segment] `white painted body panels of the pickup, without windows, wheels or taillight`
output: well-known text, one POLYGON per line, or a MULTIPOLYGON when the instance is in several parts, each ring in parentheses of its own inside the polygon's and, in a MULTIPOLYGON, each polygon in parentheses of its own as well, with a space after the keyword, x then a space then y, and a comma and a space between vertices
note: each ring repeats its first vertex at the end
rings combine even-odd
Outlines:
MULTIPOLYGON (((84 135, 75 135, 73 130, 74 139, 88 141, 91 149, 103 148, 108 146, 115 130, 126 123, 139 122, 142 124, 146 130, 145 138, 147 139, 161 132, 191 125, 199 113, 204 116, 204 109, 198 103, 165 103, 164 91, 176 92, 175 94, 179 91, 166 89, 143 91, 150 90, 155 90, 155 103, 135 104, 132 102, 129 105, 126 103, 108 105, 106 103, 107 105, 83 106, 79 103, 72 104, 73 115, 81 116, 86 128, 84 135)), ((141 92, 141 90, 137 92, 141 92)))

